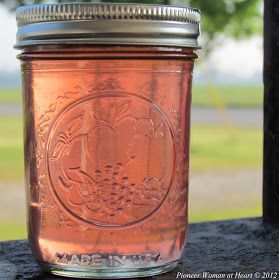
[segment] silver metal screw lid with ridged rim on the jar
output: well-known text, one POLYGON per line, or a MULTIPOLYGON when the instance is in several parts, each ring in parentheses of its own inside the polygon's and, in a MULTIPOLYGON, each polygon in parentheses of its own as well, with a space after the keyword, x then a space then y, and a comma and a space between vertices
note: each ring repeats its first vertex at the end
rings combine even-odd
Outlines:
POLYGON ((153 45, 198 48, 193 8, 113 3, 40 4, 16 10, 15 48, 46 44, 153 45))

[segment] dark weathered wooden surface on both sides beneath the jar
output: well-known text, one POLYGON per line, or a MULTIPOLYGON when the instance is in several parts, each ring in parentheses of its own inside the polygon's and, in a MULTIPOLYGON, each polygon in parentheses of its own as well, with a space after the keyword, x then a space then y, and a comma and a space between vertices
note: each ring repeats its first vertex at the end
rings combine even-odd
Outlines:
MULTIPOLYGON (((66 279, 40 272, 26 240, 2 242, 0 245, 1 280, 66 279)), ((177 272, 264 271, 279 272, 279 228, 263 225, 260 218, 239 219, 190 224, 186 250, 177 268, 146 279, 176 279, 177 272)), ((276 279, 278 277, 279 274, 276 279)))

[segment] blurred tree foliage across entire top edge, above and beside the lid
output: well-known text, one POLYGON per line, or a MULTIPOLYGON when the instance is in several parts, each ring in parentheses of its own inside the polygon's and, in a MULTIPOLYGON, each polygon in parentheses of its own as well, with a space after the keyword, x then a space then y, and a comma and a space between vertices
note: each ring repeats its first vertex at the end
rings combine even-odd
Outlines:
MULTIPOLYGON (((70 1, 0 0, 0 3, 4 3, 10 10, 22 5, 46 2, 70 1)), ((94 0, 74 2, 94 2, 94 0)), ((98 2, 178 4, 196 7, 202 11, 203 50, 205 54, 210 52, 221 34, 239 39, 262 32, 261 0, 99 0, 98 2)))

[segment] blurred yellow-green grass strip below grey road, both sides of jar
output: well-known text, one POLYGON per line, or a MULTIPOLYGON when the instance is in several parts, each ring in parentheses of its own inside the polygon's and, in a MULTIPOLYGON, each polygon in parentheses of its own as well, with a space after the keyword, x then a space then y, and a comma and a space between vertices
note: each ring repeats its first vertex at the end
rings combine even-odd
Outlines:
MULTIPOLYGON (((0 180, 23 180, 22 118, 0 118, 0 180)), ((261 166, 260 128, 192 126, 191 170, 234 170, 261 166)), ((0 215, 1 216, 1 215, 0 215)))

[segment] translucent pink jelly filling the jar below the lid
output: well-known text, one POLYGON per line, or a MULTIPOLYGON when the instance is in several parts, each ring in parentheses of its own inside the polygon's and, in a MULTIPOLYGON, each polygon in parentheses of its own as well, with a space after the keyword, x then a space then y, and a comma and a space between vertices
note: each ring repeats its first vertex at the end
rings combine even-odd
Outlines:
POLYGON ((177 261, 187 235, 191 50, 27 49, 29 240, 41 263, 177 261))

